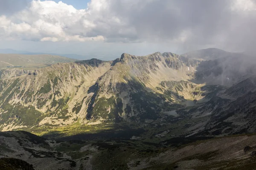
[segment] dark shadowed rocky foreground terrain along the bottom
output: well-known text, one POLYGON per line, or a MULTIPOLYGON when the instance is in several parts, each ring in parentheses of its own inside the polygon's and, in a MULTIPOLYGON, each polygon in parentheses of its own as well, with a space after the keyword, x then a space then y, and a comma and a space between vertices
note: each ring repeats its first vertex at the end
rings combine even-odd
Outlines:
POLYGON ((180 144, 136 139, 56 141, 25 131, 1 132, 0 139, 3 170, 253 170, 256 165, 255 135, 189 144, 185 140, 180 144))

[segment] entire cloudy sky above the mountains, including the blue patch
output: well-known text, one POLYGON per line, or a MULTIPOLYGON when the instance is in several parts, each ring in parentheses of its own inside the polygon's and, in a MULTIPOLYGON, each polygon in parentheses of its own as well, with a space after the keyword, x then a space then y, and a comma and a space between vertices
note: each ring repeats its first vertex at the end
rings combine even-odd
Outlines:
POLYGON ((256 0, 0 0, 0 48, 114 59, 256 53, 256 0))

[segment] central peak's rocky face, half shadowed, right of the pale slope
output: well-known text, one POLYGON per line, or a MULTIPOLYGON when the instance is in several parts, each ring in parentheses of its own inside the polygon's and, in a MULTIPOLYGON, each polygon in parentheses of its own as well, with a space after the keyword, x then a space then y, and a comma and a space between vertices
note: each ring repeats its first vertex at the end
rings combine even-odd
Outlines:
POLYGON ((163 94, 160 83, 188 79, 187 74, 192 72, 188 68, 195 65, 196 60, 185 60, 172 53, 154 53, 145 57, 122 54, 120 62, 96 82, 87 119, 95 116, 137 121, 157 119, 169 105, 184 100, 176 99, 180 98, 177 91, 173 96, 163 94), (167 97, 169 100, 166 101, 167 97))

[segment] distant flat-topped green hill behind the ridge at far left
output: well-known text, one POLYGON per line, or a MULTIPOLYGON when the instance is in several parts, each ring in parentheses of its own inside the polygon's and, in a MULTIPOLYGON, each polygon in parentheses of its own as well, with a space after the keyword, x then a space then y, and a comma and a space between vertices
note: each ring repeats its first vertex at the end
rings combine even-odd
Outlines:
POLYGON ((58 62, 75 61, 77 60, 49 54, 0 54, 0 68, 43 68, 58 62))

